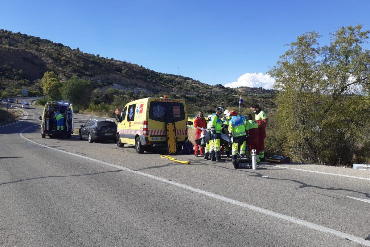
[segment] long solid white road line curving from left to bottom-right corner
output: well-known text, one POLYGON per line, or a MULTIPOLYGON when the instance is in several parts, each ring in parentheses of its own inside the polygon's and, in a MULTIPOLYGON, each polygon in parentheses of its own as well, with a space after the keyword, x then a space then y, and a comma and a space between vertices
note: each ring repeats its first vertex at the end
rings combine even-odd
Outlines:
MULTIPOLYGON (((37 124, 37 125, 34 125, 34 126, 40 126, 40 125, 37 124)), ((30 126, 28 128, 31 128, 31 127, 34 127, 34 126, 30 126)), ((353 236, 353 235, 350 235, 350 234, 347 234, 347 233, 342 233, 340 231, 337 231, 337 230, 334 230, 334 229, 331 229, 331 228, 320 226, 320 225, 317 225, 317 224, 314 224, 314 223, 311 223, 311 222, 308 222, 308 221, 300 220, 298 218, 290 217, 290 216, 287 216, 285 214, 276 213, 276 212, 273 212, 273 211, 270 211, 270 210, 267 210, 267 209, 264 209, 264 208, 260 208, 260 207, 256 207, 256 206, 253 206, 253 205, 250 205, 250 204, 247 204, 247 203, 243 203, 241 201, 236 201, 236 200, 233 200, 231 198, 220 196, 220 195, 217 195, 217 194, 213 194, 211 192, 208 192, 208 191, 205 191, 205 190, 200 190, 200 189, 197 189, 197 188, 194 188, 194 187, 191 187, 191 186, 187 186, 185 184, 176 183, 174 181, 169 181, 165 178, 161 178, 161 177, 157 177, 157 176, 154 176, 154 175, 151 175, 151 174, 143 173, 141 171, 134 171, 134 170, 131 170, 129 168, 122 167, 122 166, 117 166, 115 164, 111 164, 111 163, 108 163, 108 162, 105 162, 105 161, 102 161, 102 160, 97 160, 97 159, 82 156, 82 155, 79 155, 79 154, 70 153, 70 152, 67 152, 67 151, 64 151, 64 150, 59 150, 57 148, 53 148, 53 147, 49 147, 49 146, 37 143, 36 141, 32 141, 32 140, 30 140, 30 139, 28 139, 28 138, 26 138, 22 135, 23 131, 27 130, 28 128, 25 128, 24 130, 22 130, 19 133, 19 135, 23 139, 25 139, 27 141, 30 141, 34 144, 40 145, 42 147, 50 148, 50 149, 53 149, 53 150, 56 150, 56 151, 60 151, 62 153, 66 153, 66 154, 70 154, 70 155, 77 156, 77 157, 80 157, 80 158, 84 158, 84 159, 87 159, 87 160, 102 163, 102 164, 105 164, 107 166, 115 167, 115 168, 118 168, 118 169, 121 169, 121 170, 126 170, 129 173, 135 173, 135 174, 138 174, 140 176, 153 178, 155 180, 162 181, 162 182, 168 183, 168 184, 172 184, 174 186, 178 186, 178 187, 181 187, 181 188, 185 188, 187 190, 194 191, 196 193, 203 194, 205 196, 213 197, 213 198, 216 198, 218 200, 225 201, 227 203, 235 204, 235 205, 238 205, 240 207, 249 208, 251 210, 254 210, 254 211, 257 211, 257 212, 260 212, 260 213, 263 213, 263 214, 267 214, 269 216, 280 218, 282 220, 286 220, 286 221, 289 221, 289 222, 292 222, 292 223, 296 223, 296 224, 299 224, 301 226, 306 226, 306 227, 312 228, 312 229, 317 230, 317 231, 322 231, 324 233, 333 234, 333 235, 335 235, 337 237, 340 237, 340 238, 344 238, 344 239, 347 239, 347 240, 354 241, 356 243, 360 243, 360 244, 364 244, 366 246, 370 246, 370 241, 369 240, 365 240, 363 238, 359 238, 359 237, 356 237, 356 236, 353 236)))

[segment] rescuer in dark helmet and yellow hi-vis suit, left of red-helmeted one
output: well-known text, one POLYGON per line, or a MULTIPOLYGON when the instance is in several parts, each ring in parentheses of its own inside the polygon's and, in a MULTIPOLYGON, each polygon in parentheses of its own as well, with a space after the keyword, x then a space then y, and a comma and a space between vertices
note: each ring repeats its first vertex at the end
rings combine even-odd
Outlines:
POLYGON ((220 115, 223 113, 222 107, 216 108, 216 113, 211 117, 211 136, 213 140, 214 146, 214 154, 211 151, 211 160, 216 162, 225 162, 225 160, 221 160, 221 119, 220 115))

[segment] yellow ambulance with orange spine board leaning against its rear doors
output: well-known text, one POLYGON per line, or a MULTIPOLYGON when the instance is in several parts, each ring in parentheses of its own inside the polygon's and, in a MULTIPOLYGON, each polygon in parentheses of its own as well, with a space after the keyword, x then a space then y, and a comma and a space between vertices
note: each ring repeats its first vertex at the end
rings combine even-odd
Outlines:
POLYGON ((135 145, 137 153, 150 147, 164 147, 167 144, 165 123, 166 112, 173 113, 177 148, 181 150, 188 140, 186 106, 184 100, 145 98, 134 100, 117 114, 117 146, 135 145))

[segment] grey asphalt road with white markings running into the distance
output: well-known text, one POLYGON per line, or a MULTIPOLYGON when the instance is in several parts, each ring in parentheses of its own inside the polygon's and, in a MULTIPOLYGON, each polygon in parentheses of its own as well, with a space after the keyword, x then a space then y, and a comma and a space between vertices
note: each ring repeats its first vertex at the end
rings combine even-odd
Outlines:
POLYGON ((42 139, 41 110, 24 111, 0 127, 0 246, 370 246, 369 171, 177 155, 184 165, 42 139))

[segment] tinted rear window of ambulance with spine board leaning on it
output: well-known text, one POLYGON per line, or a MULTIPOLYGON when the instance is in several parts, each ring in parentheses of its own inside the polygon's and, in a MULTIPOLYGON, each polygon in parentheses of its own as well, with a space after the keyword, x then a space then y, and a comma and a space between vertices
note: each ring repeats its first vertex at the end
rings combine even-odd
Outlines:
POLYGON ((149 119, 164 122, 167 110, 174 114, 174 120, 182 121, 185 119, 184 104, 178 102, 152 101, 149 105, 149 119))

